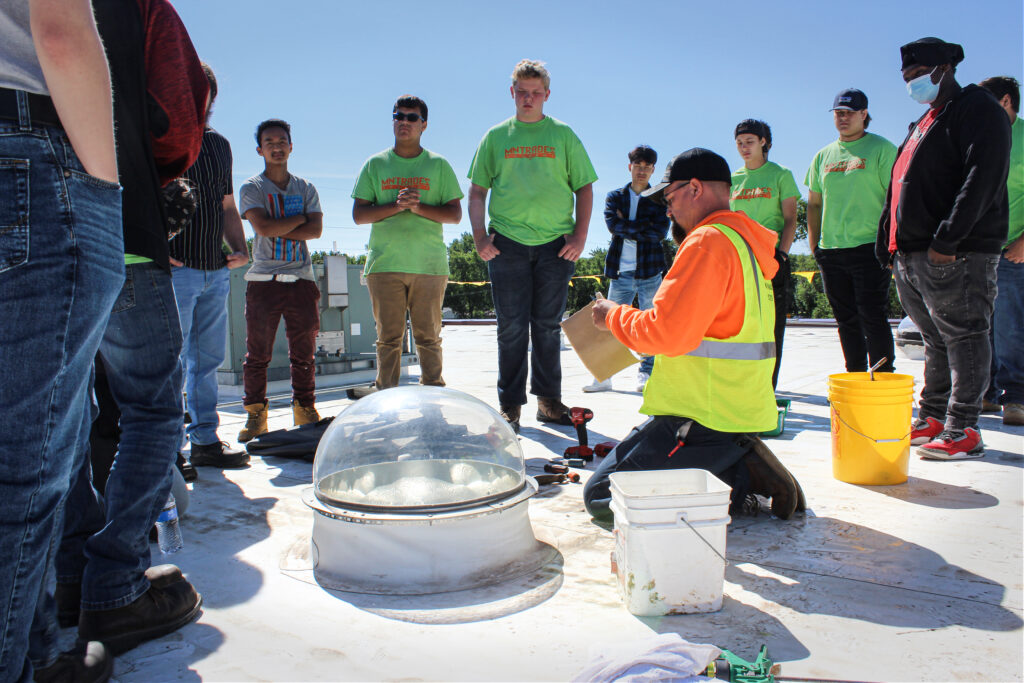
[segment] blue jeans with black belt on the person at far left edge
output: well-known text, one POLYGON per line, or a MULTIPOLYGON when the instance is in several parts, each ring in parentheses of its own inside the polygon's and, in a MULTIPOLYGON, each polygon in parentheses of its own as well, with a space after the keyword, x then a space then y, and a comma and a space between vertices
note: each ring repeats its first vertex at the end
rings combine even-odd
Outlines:
POLYGON ((59 541, 92 357, 124 279, 118 185, 65 134, 0 121, 0 680, 31 680, 29 630, 59 541))

